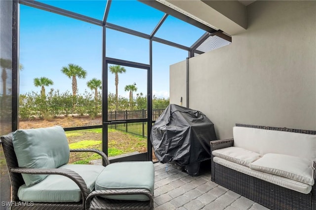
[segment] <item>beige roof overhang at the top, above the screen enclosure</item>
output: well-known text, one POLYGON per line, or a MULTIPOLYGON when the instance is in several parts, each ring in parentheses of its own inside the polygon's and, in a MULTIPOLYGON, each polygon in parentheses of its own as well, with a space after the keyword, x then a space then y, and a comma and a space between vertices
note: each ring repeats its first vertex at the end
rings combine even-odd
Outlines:
MULTIPOLYGON (((172 9, 189 17, 191 20, 189 23, 195 26, 202 24, 207 29, 222 30, 228 35, 236 35, 247 29, 246 5, 238 0, 142 0, 142 2, 168 14, 172 9)), ((205 31, 212 33, 210 30, 205 31)))

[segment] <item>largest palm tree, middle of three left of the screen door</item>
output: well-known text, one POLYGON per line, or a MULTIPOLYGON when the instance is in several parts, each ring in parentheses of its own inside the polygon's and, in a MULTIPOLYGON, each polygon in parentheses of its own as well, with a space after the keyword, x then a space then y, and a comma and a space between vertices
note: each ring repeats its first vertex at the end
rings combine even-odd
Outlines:
POLYGON ((87 75, 87 71, 83 70, 82 67, 75 65, 75 64, 68 64, 67 67, 63 67, 61 69, 61 72, 63 72, 66 76, 69 78, 72 78, 72 88, 73 88, 73 96, 77 95, 78 85, 77 85, 77 76, 79 79, 85 78, 87 75))

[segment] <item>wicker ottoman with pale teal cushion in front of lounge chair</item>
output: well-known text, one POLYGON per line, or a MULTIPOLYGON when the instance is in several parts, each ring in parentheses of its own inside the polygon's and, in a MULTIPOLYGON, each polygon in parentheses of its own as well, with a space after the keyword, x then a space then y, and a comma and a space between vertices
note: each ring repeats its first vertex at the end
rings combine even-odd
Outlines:
POLYGON ((154 182, 151 161, 112 163, 97 176, 86 209, 153 209, 154 182))

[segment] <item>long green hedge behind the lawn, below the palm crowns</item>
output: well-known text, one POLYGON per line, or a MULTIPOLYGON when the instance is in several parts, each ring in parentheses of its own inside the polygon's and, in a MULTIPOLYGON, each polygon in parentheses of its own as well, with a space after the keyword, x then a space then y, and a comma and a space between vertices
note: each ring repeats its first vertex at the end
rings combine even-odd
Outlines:
MULTIPOLYGON (((108 109, 115 110, 115 94, 109 93, 108 109)), ((89 115, 92 119, 102 113, 102 96, 98 94, 97 100, 94 93, 85 91, 83 94, 73 96, 69 91, 61 93, 59 90, 51 89, 45 96, 32 92, 20 95, 19 114, 22 120, 32 118, 51 119, 57 116, 89 115)), ((153 109, 166 108, 169 99, 158 99, 154 96, 153 109)), ((127 98, 118 97, 119 110, 136 110, 147 108, 147 96, 137 94, 136 99, 130 103, 127 98)))

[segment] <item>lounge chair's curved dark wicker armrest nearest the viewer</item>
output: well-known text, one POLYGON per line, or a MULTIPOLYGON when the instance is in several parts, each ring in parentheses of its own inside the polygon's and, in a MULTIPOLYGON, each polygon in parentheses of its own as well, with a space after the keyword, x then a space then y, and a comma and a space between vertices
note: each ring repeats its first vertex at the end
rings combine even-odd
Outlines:
POLYGON ((82 195, 82 204, 84 206, 88 196, 88 188, 82 177, 69 169, 30 169, 30 168, 12 168, 11 172, 20 174, 38 174, 38 175, 64 175, 72 179, 80 188, 82 195))

